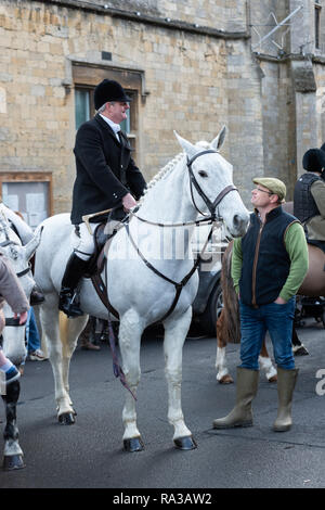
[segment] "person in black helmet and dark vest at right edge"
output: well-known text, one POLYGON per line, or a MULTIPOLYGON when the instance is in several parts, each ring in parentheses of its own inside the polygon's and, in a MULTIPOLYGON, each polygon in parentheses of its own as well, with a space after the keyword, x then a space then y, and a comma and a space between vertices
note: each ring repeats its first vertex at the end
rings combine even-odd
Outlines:
POLYGON ((294 215, 304 227, 307 242, 325 253, 325 152, 310 149, 303 154, 302 166, 307 171, 295 186, 294 215))

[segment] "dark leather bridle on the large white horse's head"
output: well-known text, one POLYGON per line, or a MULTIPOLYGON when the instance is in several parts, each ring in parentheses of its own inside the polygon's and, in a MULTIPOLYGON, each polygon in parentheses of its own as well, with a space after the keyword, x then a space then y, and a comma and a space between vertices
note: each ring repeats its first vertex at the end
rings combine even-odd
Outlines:
POLYGON ((197 207, 196 203, 195 203, 195 200, 194 200, 194 195, 193 195, 193 187, 196 189, 197 193, 199 194, 199 196, 203 199, 204 203, 206 204, 206 206, 208 207, 209 212, 210 212, 210 218, 212 221, 216 221, 216 219, 220 220, 222 219, 221 216, 218 214, 216 214, 216 209, 218 207, 218 205, 220 204, 220 202, 222 201, 222 199, 227 194, 230 193, 231 191, 238 191, 238 189, 234 186, 234 184, 230 184, 230 186, 226 186, 216 197, 216 200, 213 202, 210 201, 210 199, 206 195, 206 193, 203 191, 203 189, 200 188, 199 183, 197 182, 196 178, 195 178, 195 175, 193 173, 193 168, 192 168, 192 165, 193 163, 200 156, 204 156, 205 154, 218 154, 218 151, 213 151, 212 149, 209 149, 207 151, 202 151, 197 154, 195 154, 191 160, 188 160, 187 157, 187 162, 186 162, 186 165, 187 165, 187 169, 188 169, 188 175, 190 175, 190 189, 191 189, 191 196, 192 196, 192 202, 193 202, 193 205, 195 207, 195 209, 202 215, 202 216, 207 216, 205 215, 202 211, 199 211, 199 208, 197 207))

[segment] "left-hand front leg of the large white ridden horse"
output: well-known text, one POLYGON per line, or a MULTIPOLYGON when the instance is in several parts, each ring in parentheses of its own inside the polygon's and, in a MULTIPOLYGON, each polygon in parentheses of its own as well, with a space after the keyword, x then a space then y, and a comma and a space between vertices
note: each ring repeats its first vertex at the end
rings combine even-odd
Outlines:
MULTIPOLYGON (((141 378, 140 369, 140 344, 143 326, 141 319, 134 311, 127 311, 119 324, 119 347, 122 358, 122 370, 128 387, 136 396, 138 385, 141 378)), ((125 425, 123 446, 127 451, 141 451, 144 444, 136 425, 135 400, 132 394, 126 391, 126 401, 122 410, 122 422, 125 425)))

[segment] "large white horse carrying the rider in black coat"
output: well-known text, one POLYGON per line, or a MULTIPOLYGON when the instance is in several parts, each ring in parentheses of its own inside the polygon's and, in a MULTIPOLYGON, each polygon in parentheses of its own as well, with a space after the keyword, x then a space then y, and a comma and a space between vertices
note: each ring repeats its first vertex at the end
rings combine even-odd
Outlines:
MULTIPOLYGON (((128 228, 118 230, 110 242, 108 254, 106 253, 108 298, 119 315, 122 370, 133 395, 136 394, 141 375, 142 332, 147 326, 162 319, 169 394, 168 419, 174 428, 174 444, 181 449, 195 447, 181 408, 181 380, 182 347, 191 324, 192 303, 198 286, 197 271, 193 271, 186 284, 183 282, 179 299, 168 314, 174 302, 177 282, 192 272, 191 235, 199 212, 210 217, 212 215, 214 219, 213 214, 218 209, 233 237, 243 235, 249 221, 248 212, 233 186, 232 165, 218 152, 224 135, 225 128, 211 143, 199 142, 193 145, 176 133, 184 153, 160 170, 150 183, 147 192, 141 199, 139 215, 131 214, 128 228), (184 227, 164 229, 161 224, 169 227, 187 224, 188 237, 184 237, 184 227), (179 242, 183 245, 181 255, 170 248, 171 237, 168 237, 168 232, 171 230, 173 233, 170 235, 174 235, 176 244, 179 242), (162 231, 165 244, 161 247, 162 231)), ((46 293, 46 302, 40 310, 41 328, 54 373, 57 416, 60 421, 72 423, 75 411, 68 391, 68 368, 87 316, 65 320, 65 345, 62 348, 57 301, 65 265, 74 248, 75 233, 67 214, 53 216, 41 225, 43 233, 37 250, 35 269, 36 282, 46 293)), ((89 279, 82 279, 80 305, 86 314, 107 319, 107 309, 89 279)), ((135 403, 130 392, 126 392, 122 421, 125 448, 131 451, 142 449, 135 403)))

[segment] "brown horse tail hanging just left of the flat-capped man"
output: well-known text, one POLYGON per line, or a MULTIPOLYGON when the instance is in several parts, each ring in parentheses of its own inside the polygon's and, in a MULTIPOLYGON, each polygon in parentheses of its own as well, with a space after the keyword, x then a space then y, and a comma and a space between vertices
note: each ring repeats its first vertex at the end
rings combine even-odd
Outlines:
POLYGON ((219 344, 240 342, 240 322, 238 297, 231 276, 233 242, 231 242, 222 258, 221 288, 223 309, 217 321, 217 337, 219 344))

